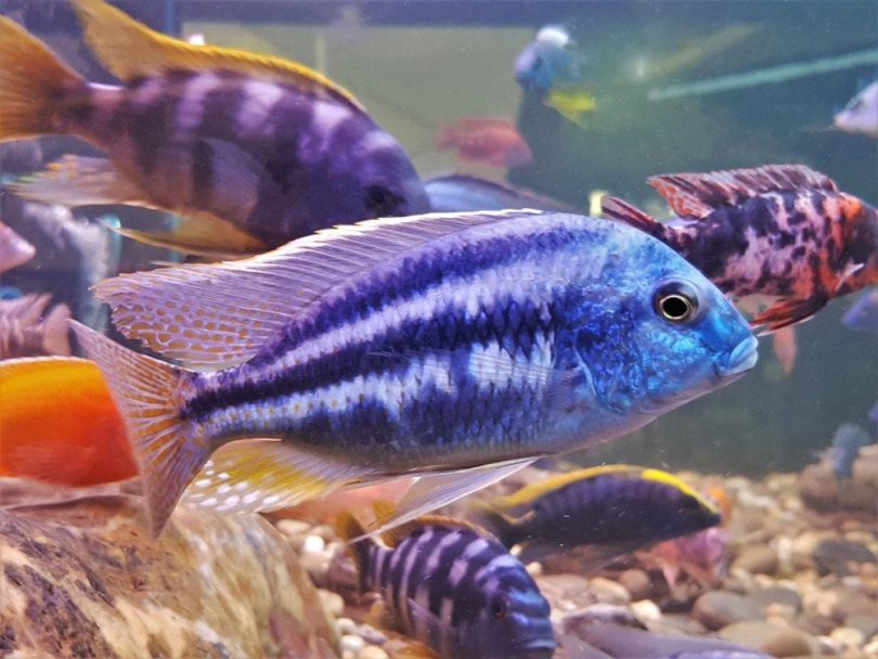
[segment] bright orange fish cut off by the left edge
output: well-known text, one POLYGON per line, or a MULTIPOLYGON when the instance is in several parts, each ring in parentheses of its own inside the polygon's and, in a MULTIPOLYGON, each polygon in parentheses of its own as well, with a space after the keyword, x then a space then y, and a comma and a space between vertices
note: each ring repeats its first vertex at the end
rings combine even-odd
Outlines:
POLYGON ((78 487, 137 473, 125 421, 93 362, 0 362, 0 476, 78 487))

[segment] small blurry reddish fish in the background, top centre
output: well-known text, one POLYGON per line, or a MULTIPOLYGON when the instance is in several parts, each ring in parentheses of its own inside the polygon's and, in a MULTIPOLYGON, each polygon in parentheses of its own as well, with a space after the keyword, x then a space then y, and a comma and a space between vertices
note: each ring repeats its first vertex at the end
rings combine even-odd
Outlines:
POLYGON ((533 158, 515 126, 493 117, 460 117, 446 124, 439 130, 436 147, 454 150, 461 160, 489 167, 518 167, 533 158))

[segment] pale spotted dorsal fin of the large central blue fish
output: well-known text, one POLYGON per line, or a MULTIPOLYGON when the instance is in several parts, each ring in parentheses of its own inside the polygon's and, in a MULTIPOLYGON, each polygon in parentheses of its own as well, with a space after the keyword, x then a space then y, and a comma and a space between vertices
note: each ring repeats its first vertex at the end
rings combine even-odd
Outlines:
POLYGON ((366 220, 225 263, 125 274, 98 284, 128 338, 189 366, 253 357, 302 309, 363 270, 430 241, 537 210, 436 214, 366 220))

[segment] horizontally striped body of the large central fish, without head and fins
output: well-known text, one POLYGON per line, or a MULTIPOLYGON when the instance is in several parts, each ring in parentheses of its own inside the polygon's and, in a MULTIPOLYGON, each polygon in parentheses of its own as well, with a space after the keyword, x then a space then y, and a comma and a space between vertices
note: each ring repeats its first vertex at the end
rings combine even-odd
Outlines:
POLYGON ((247 363, 198 376, 181 415, 216 441, 295 439, 366 464, 380 447, 398 468, 532 453, 574 373, 579 277, 601 268, 577 223, 534 217, 378 269, 247 363))

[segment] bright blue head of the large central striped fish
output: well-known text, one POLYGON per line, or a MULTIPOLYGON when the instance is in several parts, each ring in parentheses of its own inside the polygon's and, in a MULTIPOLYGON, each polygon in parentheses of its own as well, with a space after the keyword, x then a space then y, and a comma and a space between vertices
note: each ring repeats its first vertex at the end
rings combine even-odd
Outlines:
POLYGON ((752 369, 757 339, 698 270, 632 231, 607 253, 599 285, 569 302, 579 313, 569 338, 602 406, 646 423, 752 369))

